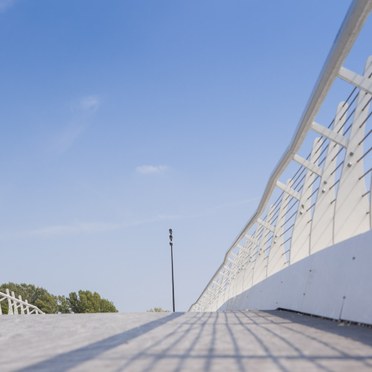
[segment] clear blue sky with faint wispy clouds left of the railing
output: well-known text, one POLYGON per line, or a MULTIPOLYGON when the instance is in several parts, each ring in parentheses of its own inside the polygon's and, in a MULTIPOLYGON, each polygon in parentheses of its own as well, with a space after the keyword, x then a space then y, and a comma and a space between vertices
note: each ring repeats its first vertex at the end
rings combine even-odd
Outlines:
POLYGON ((196 300, 349 0, 0 0, 0 281, 196 300))

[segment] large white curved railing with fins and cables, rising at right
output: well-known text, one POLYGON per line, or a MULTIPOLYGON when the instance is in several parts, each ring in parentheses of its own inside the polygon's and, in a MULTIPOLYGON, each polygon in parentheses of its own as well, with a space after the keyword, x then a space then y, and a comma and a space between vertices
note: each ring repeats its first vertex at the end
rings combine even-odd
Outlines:
POLYGON ((289 265, 372 228, 372 57, 364 73, 342 67, 371 9, 371 0, 353 1, 257 211, 190 311, 216 311, 289 265), (351 91, 327 126, 317 115, 336 80, 351 91), (310 154, 301 156, 309 143, 310 154))

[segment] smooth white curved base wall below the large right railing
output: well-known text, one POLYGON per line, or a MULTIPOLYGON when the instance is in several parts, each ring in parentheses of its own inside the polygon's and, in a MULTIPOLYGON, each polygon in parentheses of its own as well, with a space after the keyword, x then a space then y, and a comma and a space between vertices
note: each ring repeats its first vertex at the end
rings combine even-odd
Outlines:
POLYGON ((277 308, 372 324, 372 231, 288 266, 219 311, 277 308))

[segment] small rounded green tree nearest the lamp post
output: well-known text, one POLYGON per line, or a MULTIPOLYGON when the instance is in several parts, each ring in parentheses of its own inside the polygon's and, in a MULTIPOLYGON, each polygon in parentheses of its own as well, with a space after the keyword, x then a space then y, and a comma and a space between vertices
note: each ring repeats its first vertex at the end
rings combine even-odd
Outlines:
POLYGON ((115 305, 97 292, 82 291, 71 292, 67 299, 73 313, 116 313, 115 305))

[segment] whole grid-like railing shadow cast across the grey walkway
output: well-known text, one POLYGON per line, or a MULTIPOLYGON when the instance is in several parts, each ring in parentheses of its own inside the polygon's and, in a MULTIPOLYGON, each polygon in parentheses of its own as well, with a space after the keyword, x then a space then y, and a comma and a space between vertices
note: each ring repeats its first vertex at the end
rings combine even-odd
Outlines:
POLYGON ((275 310, 175 313, 19 371, 287 372, 350 365, 372 369, 370 328, 275 310))

